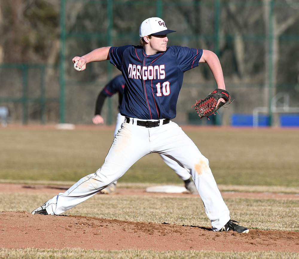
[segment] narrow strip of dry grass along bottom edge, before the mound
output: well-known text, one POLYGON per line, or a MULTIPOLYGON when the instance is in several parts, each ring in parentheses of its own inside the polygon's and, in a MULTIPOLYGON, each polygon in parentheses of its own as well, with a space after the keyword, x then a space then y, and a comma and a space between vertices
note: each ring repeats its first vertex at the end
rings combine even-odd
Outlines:
POLYGON ((297 253, 276 253, 276 252, 242 252, 242 253, 221 253, 210 251, 168 251, 168 252, 154 252, 154 251, 90 251, 81 249, 0 249, 1 259, 68 259, 68 258, 81 258, 81 259, 291 259, 298 258, 297 253))

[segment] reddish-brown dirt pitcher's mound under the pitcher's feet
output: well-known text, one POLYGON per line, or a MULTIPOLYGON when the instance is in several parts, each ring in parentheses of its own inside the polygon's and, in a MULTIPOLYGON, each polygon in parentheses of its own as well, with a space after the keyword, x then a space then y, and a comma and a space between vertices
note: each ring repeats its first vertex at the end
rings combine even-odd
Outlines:
POLYGON ((250 230, 213 232, 200 226, 144 223, 82 216, 0 213, 2 248, 214 250, 299 252, 299 233, 250 230))

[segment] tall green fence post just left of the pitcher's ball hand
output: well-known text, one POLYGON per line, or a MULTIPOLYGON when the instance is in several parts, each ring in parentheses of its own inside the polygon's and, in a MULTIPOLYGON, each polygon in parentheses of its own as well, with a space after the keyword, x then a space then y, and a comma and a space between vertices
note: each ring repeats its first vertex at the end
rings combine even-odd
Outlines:
POLYGON ((65 0, 60 0, 60 63, 59 63, 59 116, 60 123, 65 121, 65 0))

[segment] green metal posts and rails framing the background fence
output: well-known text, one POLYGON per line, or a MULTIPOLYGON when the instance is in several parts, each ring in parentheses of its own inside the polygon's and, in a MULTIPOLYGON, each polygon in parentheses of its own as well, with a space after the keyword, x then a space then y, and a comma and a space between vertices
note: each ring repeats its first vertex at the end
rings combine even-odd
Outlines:
MULTIPOLYGON (((205 40, 211 40, 213 41, 214 49, 211 49, 214 51, 220 58, 221 58, 221 52, 220 52, 220 41, 225 39, 235 39, 237 36, 241 36, 243 39, 246 40, 252 40, 252 41, 266 41, 268 44, 267 49, 267 57, 268 57, 268 66, 267 66, 267 78, 266 83, 268 87, 268 108, 271 106, 271 100, 274 95, 274 82, 273 79, 273 40, 275 35, 273 35, 273 17, 275 15, 275 7, 283 7, 283 6, 293 6, 298 7, 298 3, 296 1, 274 1, 274 0, 268 0, 268 1, 260 1, 260 0, 252 0, 252 1, 233 1, 233 0, 206 0, 206 1, 187 1, 187 0, 181 0, 181 1, 166 1, 166 0, 156 0, 156 1, 116 1, 116 0, 60 0, 60 63, 59 63, 59 73, 60 73, 60 96, 57 98, 51 98, 47 99, 45 97, 45 91, 42 90, 42 94, 39 98, 32 98, 28 97, 26 94, 27 89, 27 83, 26 83, 26 76, 27 76, 27 70, 29 67, 36 66, 39 67, 41 70, 45 70, 46 65, 29 65, 29 64, 23 64, 23 65, 16 65, 16 64, 1 64, 1 68, 20 68, 22 69, 23 73, 23 96, 22 97, 0 97, 0 102, 20 102, 23 104, 23 123, 27 123, 28 121, 28 113, 27 113, 27 107, 29 102, 40 102, 41 103, 41 109, 42 109, 42 123, 46 123, 45 118, 45 104, 48 101, 55 101, 59 102, 60 105, 60 122, 65 122, 65 86, 70 83, 68 82, 68 79, 66 78, 66 71, 65 71, 65 64, 66 64, 66 42, 69 39, 80 39, 80 38, 97 38, 97 39, 104 39, 106 41, 106 45, 114 45, 115 41, 117 39, 122 38, 131 38, 134 41, 139 38, 138 31, 136 32, 113 32, 113 22, 114 22, 114 10, 117 8, 122 8, 123 6, 128 5, 139 5, 141 7, 144 7, 145 9, 147 7, 155 8, 155 15, 158 17, 161 17, 164 19, 164 10, 167 10, 169 7, 177 6, 177 7, 201 7, 201 6, 210 6, 213 8, 213 25, 214 29, 209 34, 180 34, 176 33, 176 35, 172 35, 172 39, 175 39, 177 41, 182 41, 184 39, 193 40, 193 39, 205 39, 205 40), (105 32, 93 32, 93 31, 86 31, 86 32, 76 32, 76 31, 67 31, 66 29, 66 13, 68 13, 68 7, 70 5, 74 4, 94 4, 94 5, 102 5, 104 8, 106 8, 106 19, 107 19, 107 26, 105 32), (267 31, 264 34, 241 34, 241 35, 235 35, 235 34, 225 34, 221 35, 221 10, 225 6, 234 5, 234 6, 258 6, 258 7, 264 7, 265 5, 268 6, 268 23, 269 26, 267 28, 267 31)), ((299 34, 299 33, 298 33, 299 34)), ((299 35, 287 35, 283 34, 279 36, 278 40, 284 40, 284 41, 299 41, 299 35)), ((107 65, 107 81, 112 79, 112 66, 107 65)), ((44 88, 44 83, 41 85, 41 89, 44 88)), ((112 104, 110 98, 108 99, 108 119, 107 123, 112 124, 112 104)), ((269 109, 269 116, 270 116, 270 122, 269 124, 272 125, 272 114, 271 109, 269 109)), ((220 124, 220 117, 217 117, 216 124, 220 124)))

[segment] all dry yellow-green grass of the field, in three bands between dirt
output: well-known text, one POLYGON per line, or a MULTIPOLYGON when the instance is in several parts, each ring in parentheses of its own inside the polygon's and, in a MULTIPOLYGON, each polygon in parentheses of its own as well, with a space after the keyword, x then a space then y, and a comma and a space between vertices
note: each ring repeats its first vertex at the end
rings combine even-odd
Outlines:
MULTIPOLYGON (((299 130, 198 128, 185 132, 210 160, 220 189, 299 191, 299 130)), ((112 139, 113 130, 0 128, 0 181, 39 184, 57 181, 60 185, 76 182, 102 165, 112 139)), ((157 154, 136 162, 118 183, 128 187, 144 187, 149 183, 183 184, 157 154)), ((0 211, 30 212, 51 197, 46 194, 1 194, 0 211)), ((96 195, 65 214, 210 226, 199 197, 136 199, 96 195), (102 208, 100 211, 97 209, 99 206, 102 208)), ((249 228, 299 231, 297 200, 225 199, 225 202, 231 210, 232 219, 246 223, 249 228)), ((298 258, 298 254, 0 249, 0 258, 289 259, 298 258)))

